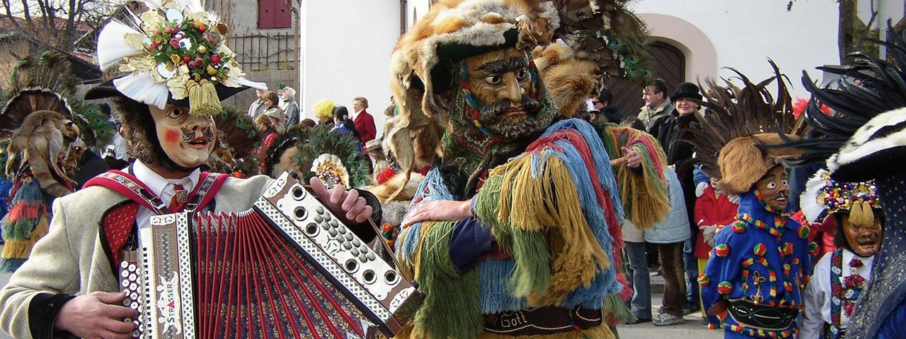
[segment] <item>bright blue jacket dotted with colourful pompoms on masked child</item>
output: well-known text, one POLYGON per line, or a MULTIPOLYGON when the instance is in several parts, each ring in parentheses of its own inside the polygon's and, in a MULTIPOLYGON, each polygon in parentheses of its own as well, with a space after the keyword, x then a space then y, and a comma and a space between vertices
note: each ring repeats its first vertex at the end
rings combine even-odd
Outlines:
POLYGON ((802 294, 812 268, 809 252, 816 246, 807 240, 807 226, 768 208, 756 190, 741 195, 737 220, 718 231, 708 266, 699 276, 709 326, 723 327, 728 338, 787 338, 798 332, 795 315, 802 310, 802 294), (751 315, 756 308, 767 306, 793 320, 783 329, 740 321, 740 312, 734 315, 726 308, 735 303, 742 305, 737 310, 752 311, 751 315))

